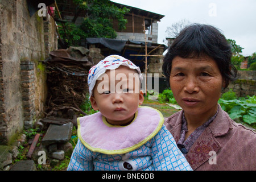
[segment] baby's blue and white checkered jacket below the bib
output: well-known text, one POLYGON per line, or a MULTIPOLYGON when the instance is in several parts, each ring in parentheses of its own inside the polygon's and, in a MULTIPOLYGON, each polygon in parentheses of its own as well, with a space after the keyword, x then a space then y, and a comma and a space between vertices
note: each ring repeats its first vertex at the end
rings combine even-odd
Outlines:
POLYGON ((119 171, 119 170, 192 170, 166 126, 141 147, 126 154, 108 155, 92 152, 79 139, 67 170, 119 171), (127 167, 127 164, 128 167, 127 167))

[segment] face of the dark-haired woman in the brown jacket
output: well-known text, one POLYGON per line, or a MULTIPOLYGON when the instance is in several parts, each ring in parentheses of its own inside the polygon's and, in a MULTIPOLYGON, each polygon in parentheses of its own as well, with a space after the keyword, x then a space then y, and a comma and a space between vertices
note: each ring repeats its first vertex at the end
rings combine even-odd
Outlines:
POLYGON ((185 117, 210 118, 217 111, 223 78, 216 62, 209 57, 172 60, 171 90, 185 117))

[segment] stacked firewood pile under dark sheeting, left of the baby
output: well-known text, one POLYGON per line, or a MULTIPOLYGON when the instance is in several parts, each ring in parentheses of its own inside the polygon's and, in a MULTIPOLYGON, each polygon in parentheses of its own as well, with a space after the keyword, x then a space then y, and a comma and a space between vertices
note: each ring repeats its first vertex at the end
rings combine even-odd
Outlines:
MULTIPOLYGON (((66 50, 61 51, 67 53, 66 50)), ((46 61, 47 116, 56 115, 58 112, 64 114, 73 111, 85 114, 79 106, 85 101, 88 93, 87 76, 93 63, 89 61, 88 55, 81 56, 82 59, 77 59, 77 55, 75 55, 76 59, 72 59, 70 55, 74 55, 73 52, 68 52, 68 56, 65 57, 63 55, 60 51, 51 52, 46 61)))

